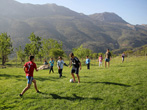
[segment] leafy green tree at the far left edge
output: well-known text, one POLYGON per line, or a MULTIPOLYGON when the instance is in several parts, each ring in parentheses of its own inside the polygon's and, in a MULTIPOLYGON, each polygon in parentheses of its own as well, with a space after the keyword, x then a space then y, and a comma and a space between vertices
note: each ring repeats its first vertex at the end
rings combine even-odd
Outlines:
POLYGON ((7 33, 1 33, 0 35, 0 55, 2 58, 2 65, 5 64, 8 55, 13 51, 12 42, 10 36, 7 33))

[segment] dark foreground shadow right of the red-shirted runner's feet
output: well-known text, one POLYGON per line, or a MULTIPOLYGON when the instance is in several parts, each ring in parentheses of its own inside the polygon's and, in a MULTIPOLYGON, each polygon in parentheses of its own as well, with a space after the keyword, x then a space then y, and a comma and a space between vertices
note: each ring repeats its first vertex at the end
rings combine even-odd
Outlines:
POLYGON ((103 100, 101 98, 83 98, 83 97, 80 97, 80 96, 77 96, 76 94, 73 94, 74 97, 62 97, 62 96, 59 96, 57 94, 50 94, 53 99, 65 99, 65 100, 85 100, 85 99, 92 99, 92 100, 103 100))

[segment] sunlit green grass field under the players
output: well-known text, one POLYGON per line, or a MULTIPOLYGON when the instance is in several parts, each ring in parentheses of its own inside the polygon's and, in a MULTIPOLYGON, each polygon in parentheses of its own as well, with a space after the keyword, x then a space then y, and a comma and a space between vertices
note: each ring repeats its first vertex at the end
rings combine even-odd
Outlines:
POLYGON ((83 66, 80 84, 69 82, 68 67, 61 79, 56 65, 52 74, 40 70, 34 78, 42 93, 32 85, 23 98, 19 97, 27 84, 23 69, 8 64, 0 69, 0 110, 147 110, 147 61, 144 57, 120 60, 112 59, 106 69, 94 61, 90 70, 83 66))

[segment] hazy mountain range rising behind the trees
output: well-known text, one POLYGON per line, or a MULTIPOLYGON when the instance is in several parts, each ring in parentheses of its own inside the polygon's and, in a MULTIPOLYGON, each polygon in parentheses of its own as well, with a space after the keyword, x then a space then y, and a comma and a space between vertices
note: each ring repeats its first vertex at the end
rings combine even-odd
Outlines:
POLYGON ((65 51, 81 44, 93 52, 147 44, 146 26, 131 25, 115 13, 88 16, 56 4, 1 0, 0 14, 0 33, 7 32, 14 47, 24 47, 32 32, 42 38, 62 41, 65 51))

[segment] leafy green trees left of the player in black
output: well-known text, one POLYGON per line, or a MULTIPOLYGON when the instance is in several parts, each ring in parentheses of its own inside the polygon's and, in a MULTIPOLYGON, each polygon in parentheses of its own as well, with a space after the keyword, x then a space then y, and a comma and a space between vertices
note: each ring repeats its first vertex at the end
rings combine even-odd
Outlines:
MULTIPOLYGON (((65 52, 62 48, 62 42, 58 42, 54 39, 42 39, 31 33, 28 37, 30 43, 27 43, 24 49, 19 46, 16 48, 17 58, 22 62, 25 61, 26 57, 34 55, 40 60, 42 58, 48 59, 49 57, 58 58, 58 56, 65 56, 65 52)), ((2 65, 4 65, 8 59, 8 55, 14 52, 12 46, 11 37, 7 33, 1 33, 0 35, 0 59, 2 65)))

